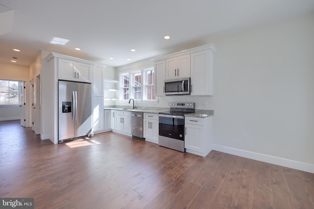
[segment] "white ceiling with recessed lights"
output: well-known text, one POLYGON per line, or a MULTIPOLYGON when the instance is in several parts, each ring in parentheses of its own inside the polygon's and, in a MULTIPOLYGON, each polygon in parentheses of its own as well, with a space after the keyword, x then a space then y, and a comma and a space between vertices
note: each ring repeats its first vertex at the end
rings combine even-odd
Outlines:
POLYGON ((17 57, 26 66, 45 50, 117 67, 175 52, 210 34, 314 11, 314 0, 0 0, 0 5, 0 28, 12 25, 0 35, 0 62, 17 57), (5 15, 10 10, 13 23, 5 15), (52 45, 53 37, 70 41, 52 45))

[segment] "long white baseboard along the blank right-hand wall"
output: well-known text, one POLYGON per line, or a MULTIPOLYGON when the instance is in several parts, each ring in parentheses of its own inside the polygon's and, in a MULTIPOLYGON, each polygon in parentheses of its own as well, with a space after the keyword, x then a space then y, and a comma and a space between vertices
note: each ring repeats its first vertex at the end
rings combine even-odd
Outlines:
POLYGON ((219 152, 225 152, 228 154, 244 157, 244 158, 249 158, 257 161, 262 161, 265 163, 272 163, 276 165, 281 165, 297 170, 302 170, 310 173, 314 173, 314 165, 309 164, 309 163, 302 163, 298 161, 292 161, 284 158, 278 158, 270 155, 264 155, 256 152, 250 152, 246 150, 241 150, 241 149, 235 149, 232 147, 226 147, 226 146, 221 146, 217 144, 212 145, 212 149, 219 151, 219 152))

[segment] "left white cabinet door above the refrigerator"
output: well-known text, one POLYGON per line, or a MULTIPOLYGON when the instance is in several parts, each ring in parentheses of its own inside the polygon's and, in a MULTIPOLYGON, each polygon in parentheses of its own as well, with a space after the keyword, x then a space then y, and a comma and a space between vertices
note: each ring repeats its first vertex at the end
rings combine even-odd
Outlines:
POLYGON ((76 80, 76 62, 58 59, 58 78, 63 80, 76 80))

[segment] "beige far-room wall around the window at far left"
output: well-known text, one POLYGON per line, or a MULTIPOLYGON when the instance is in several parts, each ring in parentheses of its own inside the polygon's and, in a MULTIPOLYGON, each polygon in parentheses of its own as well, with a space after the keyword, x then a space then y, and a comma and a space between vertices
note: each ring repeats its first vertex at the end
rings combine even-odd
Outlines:
MULTIPOLYGON (((26 81, 26 109, 29 108, 29 68, 17 64, 0 63, 0 79, 26 81)), ((0 120, 20 119, 20 107, 0 107, 0 120)), ((30 116, 26 111, 26 126, 30 126, 30 116)))

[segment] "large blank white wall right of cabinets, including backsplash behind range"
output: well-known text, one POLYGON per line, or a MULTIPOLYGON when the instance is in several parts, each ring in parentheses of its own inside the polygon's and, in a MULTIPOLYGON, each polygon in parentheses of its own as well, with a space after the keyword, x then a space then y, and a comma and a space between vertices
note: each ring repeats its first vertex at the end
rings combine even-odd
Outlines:
POLYGON ((215 149, 314 172, 313 37, 314 13, 205 37, 217 46, 214 95, 163 96, 158 106, 195 101, 214 110, 215 149))

